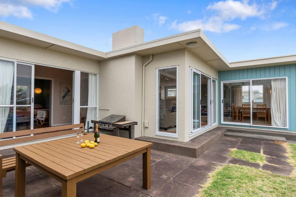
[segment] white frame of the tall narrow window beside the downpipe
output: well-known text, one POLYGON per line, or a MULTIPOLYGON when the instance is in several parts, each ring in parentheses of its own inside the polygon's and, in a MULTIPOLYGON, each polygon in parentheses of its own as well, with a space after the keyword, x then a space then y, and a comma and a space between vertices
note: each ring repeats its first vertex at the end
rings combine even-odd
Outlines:
POLYGON ((156 68, 156 135, 165 136, 165 137, 173 137, 178 138, 178 65, 156 68), (176 133, 167 133, 159 131, 159 70, 167 69, 167 68, 176 68, 176 133))

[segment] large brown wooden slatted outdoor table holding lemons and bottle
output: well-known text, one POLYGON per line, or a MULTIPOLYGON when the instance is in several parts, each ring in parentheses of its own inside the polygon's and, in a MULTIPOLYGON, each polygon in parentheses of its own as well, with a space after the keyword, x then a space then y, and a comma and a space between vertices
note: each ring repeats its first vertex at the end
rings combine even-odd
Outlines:
MULTIPOLYGON (((82 139, 92 141, 92 134, 82 139)), ((80 140, 80 139, 79 139, 80 140)), ((76 196, 76 183, 143 154, 143 188, 151 186, 150 142, 100 134, 95 148, 81 148, 76 137, 15 147, 15 196, 25 196, 26 162, 62 183, 62 196, 76 196)))

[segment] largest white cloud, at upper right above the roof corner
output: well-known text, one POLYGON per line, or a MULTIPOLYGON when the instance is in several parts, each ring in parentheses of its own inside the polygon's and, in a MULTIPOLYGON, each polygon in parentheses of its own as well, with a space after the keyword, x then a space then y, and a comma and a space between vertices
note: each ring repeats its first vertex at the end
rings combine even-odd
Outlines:
POLYGON ((202 29, 217 33, 230 32, 241 27, 238 24, 230 23, 230 21, 234 19, 245 20, 248 17, 259 17, 264 19, 266 13, 275 9, 276 6, 276 1, 272 1, 268 4, 249 4, 248 0, 218 1, 207 6, 206 10, 208 12, 213 12, 212 16, 204 16, 202 19, 195 19, 180 23, 175 21, 170 28, 177 29, 181 32, 194 29, 202 29))

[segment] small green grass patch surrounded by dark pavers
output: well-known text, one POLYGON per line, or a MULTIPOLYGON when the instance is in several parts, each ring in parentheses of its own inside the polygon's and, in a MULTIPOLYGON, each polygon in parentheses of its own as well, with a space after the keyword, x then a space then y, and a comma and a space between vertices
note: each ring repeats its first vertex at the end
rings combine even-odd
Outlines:
POLYGON ((243 159, 243 160, 253 162, 253 163, 259 163, 260 165, 262 165, 263 163, 266 163, 264 155, 257 153, 257 152, 249 152, 249 151, 245 151, 245 150, 231 149, 229 156, 235 157, 238 159, 243 159))

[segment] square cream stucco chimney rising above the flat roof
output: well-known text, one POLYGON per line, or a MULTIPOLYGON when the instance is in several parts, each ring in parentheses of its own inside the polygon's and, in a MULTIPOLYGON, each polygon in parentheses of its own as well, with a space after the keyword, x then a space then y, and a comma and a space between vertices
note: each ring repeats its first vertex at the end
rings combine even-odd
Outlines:
POLYGON ((144 29, 138 25, 112 34, 112 50, 122 49, 144 42, 144 29))

